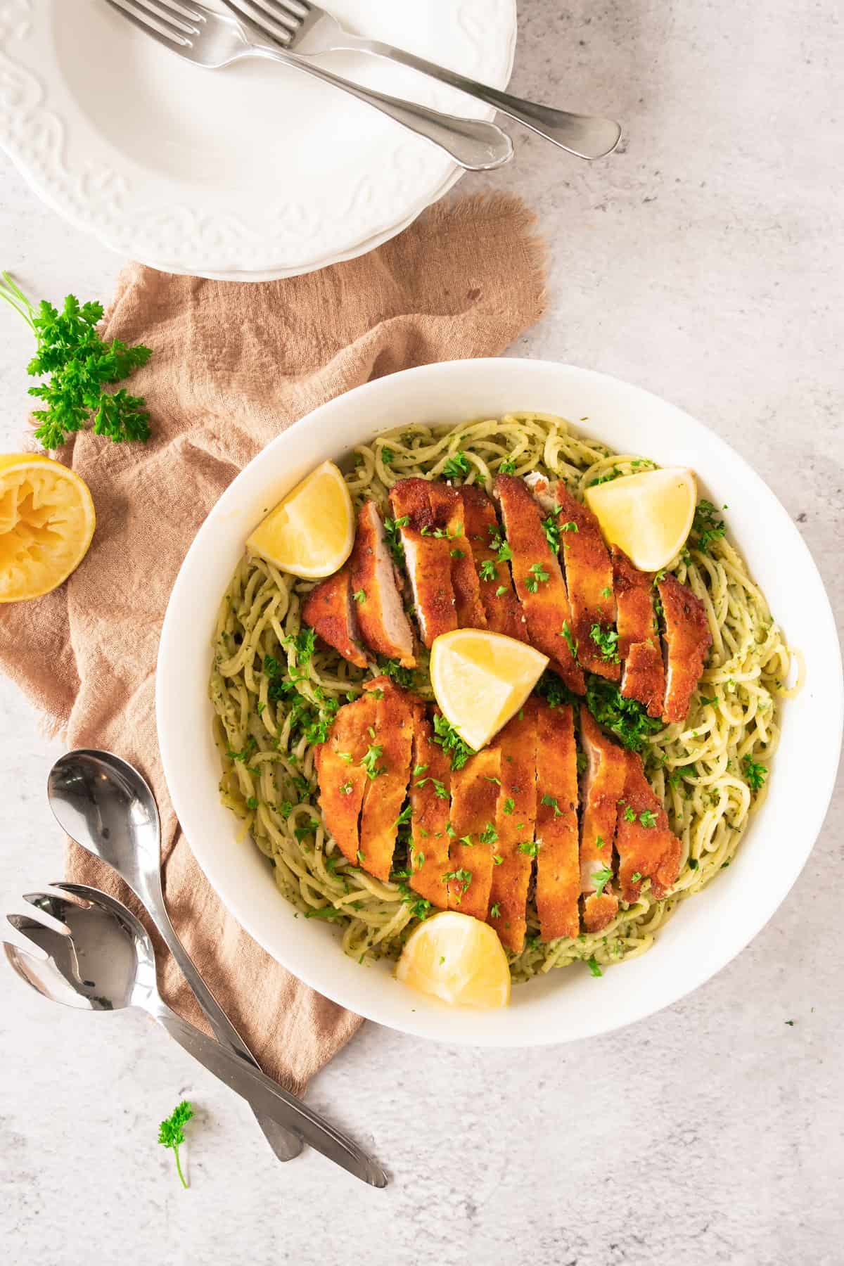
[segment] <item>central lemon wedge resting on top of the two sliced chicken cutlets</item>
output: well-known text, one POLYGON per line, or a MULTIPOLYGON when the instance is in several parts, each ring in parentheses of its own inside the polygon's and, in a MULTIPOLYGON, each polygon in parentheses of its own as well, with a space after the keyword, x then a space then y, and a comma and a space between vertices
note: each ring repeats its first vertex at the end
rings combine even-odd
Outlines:
POLYGON ((443 633, 430 649, 437 703, 476 751, 519 711, 547 666, 547 655, 486 629, 443 633))

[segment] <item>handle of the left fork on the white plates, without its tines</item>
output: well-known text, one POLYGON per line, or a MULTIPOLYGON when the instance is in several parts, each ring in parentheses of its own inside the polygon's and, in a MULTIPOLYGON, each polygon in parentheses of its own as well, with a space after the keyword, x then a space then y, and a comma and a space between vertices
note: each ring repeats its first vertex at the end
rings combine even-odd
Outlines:
POLYGON ((376 110, 387 114, 404 128, 415 132, 416 135, 433 141, 467 171, 490 171, 493 167, 501 167, 512 157, 510 137, 495 123, 486 123, 482 119, 463 119, 454 114, 440 114, 438 110, 430 110, 426 105, 419 105, 416 101, 402 101, 396 96, 376 92, 373 89, 362 87, 351 80, 332 75, 330 71, 305 61, 296 53, 282 52, 277 46, 252 44, 251 52, 259 53, 275 62, 296 66, 305 73, 357 96, 358 101, 373 105, 376 110))

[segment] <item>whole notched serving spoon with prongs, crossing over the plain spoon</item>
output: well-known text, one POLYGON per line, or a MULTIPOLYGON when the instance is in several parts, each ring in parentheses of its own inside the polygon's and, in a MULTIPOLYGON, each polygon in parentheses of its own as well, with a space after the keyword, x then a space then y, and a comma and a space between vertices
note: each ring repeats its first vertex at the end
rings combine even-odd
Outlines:
POLYGON ((125 905, 85 884, 51 887, 90 904, 80 905, 49 893, 28 893, 24 900, 33 908, 32 914, 8 915, 13 928, 48 956, 42 961, 4 942, 6 958, 28 985, 52 1001, 81 1010, 137 1006, 147 1012, 195 1060, 247 1099, 256 1113, 294 1129, 318 1152, 369 1186, 387 1185, 383 1170, 357 1143, 259 1069, 251 1067, 239 1055, 171 1012, 158 993, 152 941, 125 905))

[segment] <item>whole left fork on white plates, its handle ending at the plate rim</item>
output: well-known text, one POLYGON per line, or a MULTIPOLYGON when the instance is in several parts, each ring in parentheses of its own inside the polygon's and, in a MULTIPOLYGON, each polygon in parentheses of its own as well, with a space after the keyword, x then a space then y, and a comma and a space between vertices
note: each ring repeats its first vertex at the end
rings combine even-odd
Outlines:
POLYGON ((488 171, 512 157, 510 137, 493 123, 440 114, 415 101, 402 101, 352 84, 321 66, 313 66, 275 41, 267 42, 266 32, 248 20, 213 13, 194 0, 108 0, 108 4, 171 52, 209 70, 228 66, 242 57, 266 57, 295 66, 373 105, 396 123, 439 146, 468 171, 488 171))

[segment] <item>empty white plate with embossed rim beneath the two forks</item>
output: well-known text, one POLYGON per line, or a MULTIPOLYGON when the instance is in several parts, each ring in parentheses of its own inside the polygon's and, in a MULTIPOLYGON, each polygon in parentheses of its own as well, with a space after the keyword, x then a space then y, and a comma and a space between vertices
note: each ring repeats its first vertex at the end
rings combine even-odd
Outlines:
MULTIPOLYGON (((353 30, 507 82, 515 0, 332 8, 353 30)), ((426 141, 295 68, 251 60, 211 73, 104 0, 6 0, 0 65, 0 144, 35 192, 113 249, 175 272, 259 280, 361 254, 461 173, 426 141)), ((335 53, 324 65, 439 110, 492 115, 382 58, 335 53)))

